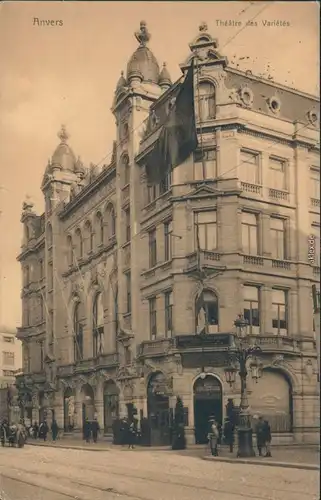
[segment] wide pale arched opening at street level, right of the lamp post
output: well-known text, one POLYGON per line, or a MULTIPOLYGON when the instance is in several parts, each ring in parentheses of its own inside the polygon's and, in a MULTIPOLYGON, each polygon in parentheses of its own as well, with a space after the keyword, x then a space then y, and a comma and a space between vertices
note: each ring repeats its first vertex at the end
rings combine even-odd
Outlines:
POLYGON ((252 415, 269 421, 273 433, 293 431, 292 385, 281 370, 266 368, 258 384, 253 384, 249 397, 252 415))

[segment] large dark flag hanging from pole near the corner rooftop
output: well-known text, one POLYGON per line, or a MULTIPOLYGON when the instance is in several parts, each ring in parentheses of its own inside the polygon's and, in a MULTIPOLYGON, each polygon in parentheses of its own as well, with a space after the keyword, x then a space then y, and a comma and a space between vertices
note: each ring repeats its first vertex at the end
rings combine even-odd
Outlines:
POLYGON ((149 184, 157 184, 183 163, 198 144, 194 109, 194 59, 147 159, 149 184))

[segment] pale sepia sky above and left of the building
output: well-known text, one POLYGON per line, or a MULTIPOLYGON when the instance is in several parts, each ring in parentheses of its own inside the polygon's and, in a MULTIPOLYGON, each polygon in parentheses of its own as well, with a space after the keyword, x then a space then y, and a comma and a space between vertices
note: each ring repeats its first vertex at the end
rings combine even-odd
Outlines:
POLYGON ((134 32, 141 20, 152 35, 151 50, 160 65, 167 63, 173 81, 205 21, 223 55, 239 59, 239 69, 262 74, 270 65, 275 81, 319 94, 316 2, 1 3, 0 325, 21 321, 16 256, 22 203, 28 194, 43 212, 40 185, 62 123, 86 165, 110 160, 115 139, 110 108, 120 72, 137 48, 134 32), (35 18, 63 26, 38 26, 35 18), (251 19, 257 26, 246 26, 251 19), (263 26, 263 21, 289 25, 263 26))

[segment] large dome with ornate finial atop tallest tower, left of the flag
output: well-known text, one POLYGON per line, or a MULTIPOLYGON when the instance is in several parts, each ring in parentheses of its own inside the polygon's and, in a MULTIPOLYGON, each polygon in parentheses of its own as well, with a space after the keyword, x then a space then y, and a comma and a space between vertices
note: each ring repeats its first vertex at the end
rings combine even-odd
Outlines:
POLYGON ((140 30, 135 33, 135 37, 139 42, 139 47, 127 64, 127 80, 129 83, 133 81, 158 83, 159 65, 152 51, 146 46, 150 40, 150 34, 144 21, 141 21, 140 30))

